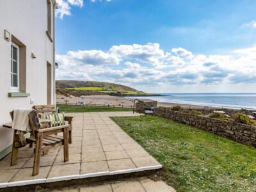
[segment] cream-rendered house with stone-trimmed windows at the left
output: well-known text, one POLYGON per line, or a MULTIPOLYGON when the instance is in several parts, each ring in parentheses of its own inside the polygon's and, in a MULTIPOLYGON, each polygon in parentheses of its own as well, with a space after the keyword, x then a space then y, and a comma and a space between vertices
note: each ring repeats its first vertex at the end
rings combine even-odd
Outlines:
POLYGON ((10 111, 55 103, 55 0, 0 1, 0 159, 12 150, 10 111))

